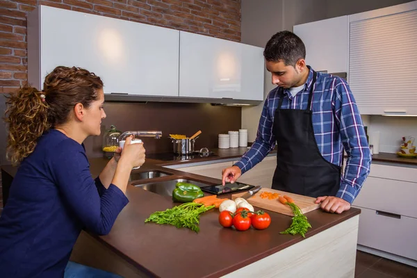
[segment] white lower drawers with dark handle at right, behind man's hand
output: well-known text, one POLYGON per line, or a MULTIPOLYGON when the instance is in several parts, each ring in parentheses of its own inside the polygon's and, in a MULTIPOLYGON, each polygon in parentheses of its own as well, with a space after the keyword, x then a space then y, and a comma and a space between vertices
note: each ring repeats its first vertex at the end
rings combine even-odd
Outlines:
POLYGON ((358 244, 417 261, 417 168, 374 164, 353 206, 358 244))

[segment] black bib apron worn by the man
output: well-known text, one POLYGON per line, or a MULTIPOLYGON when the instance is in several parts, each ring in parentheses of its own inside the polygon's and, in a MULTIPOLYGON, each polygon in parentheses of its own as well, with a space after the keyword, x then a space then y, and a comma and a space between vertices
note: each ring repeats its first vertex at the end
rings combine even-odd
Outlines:
POLYGON ((310 107, 316 78, 313 72, 306 110, 281 109, 284 89, 279 88, 281 95, 272 129, 277 138, 272 188, 310 197, 334 196, 340 188, 341 167, 322 157, 314 137, 310 107))

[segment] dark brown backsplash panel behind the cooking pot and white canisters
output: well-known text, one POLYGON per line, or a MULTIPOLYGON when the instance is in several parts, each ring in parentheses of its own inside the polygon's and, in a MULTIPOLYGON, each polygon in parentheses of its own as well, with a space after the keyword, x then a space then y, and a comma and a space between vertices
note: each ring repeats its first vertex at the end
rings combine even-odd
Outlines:
POLYGON ((148 154, 172 152, 169 134, 192 136, 201 130, 195 149, 218 147, 218 134, 238 131, 241 126, 241 108, 211 106, 211 104, 163 103, 104 104, 106 119, 101 124, 101 136, 92 136, 84 142, 89 157, 102 156, 103 134, 114 124, 119 131, 162 131, 161 139, 141 138, 148 154))

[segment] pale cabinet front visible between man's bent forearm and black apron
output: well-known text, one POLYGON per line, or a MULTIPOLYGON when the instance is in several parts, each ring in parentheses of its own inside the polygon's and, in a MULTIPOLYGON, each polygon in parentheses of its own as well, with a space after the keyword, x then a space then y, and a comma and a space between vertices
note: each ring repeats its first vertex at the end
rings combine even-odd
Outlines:
MULTIPOLYGON (((238 161, 234 161, 236 163, 238 161)), ((271 188, 272 178, 277 167, 277 156, 267 156, 251 170, 245 172, 238 179, 241 183, 251 184, 252 186, 262 186, 271 188)))

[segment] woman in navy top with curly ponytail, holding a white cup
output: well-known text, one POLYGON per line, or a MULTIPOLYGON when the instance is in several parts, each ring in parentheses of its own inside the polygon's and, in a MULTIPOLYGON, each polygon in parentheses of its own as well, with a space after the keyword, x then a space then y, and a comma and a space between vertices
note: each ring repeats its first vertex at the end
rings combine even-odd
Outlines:
POLYGON ((1 277, 115 277, 68 263, 81 229, 108 234, 129 202, 132 167, 145 162, 128 138, 92 179, 83 141, 100 135, 103 103, 99 76, 76 67, 56 67, 42 92, 25 86, 9 97, 8 158, 19 169, 0 218, 1 277))

